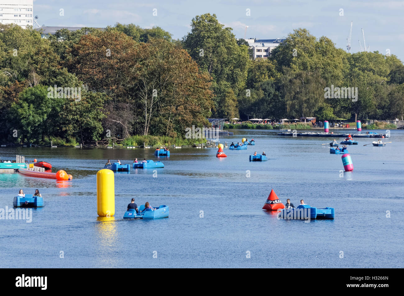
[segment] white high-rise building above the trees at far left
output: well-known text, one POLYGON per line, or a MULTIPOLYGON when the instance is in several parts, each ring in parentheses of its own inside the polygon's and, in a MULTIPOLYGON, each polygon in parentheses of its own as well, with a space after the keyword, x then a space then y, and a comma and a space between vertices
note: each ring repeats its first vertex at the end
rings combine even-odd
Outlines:
POLYGON ((0 23, 32 26, 34 0, 0 0, 0 23))

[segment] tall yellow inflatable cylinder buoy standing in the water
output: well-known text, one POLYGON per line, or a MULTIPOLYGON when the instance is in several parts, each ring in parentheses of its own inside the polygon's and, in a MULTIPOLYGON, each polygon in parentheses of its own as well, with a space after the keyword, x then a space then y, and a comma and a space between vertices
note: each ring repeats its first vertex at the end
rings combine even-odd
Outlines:
POLYGON ((112 170, 97 172, 97 214, 111 217, 115 214, 115 181, 112 170))

